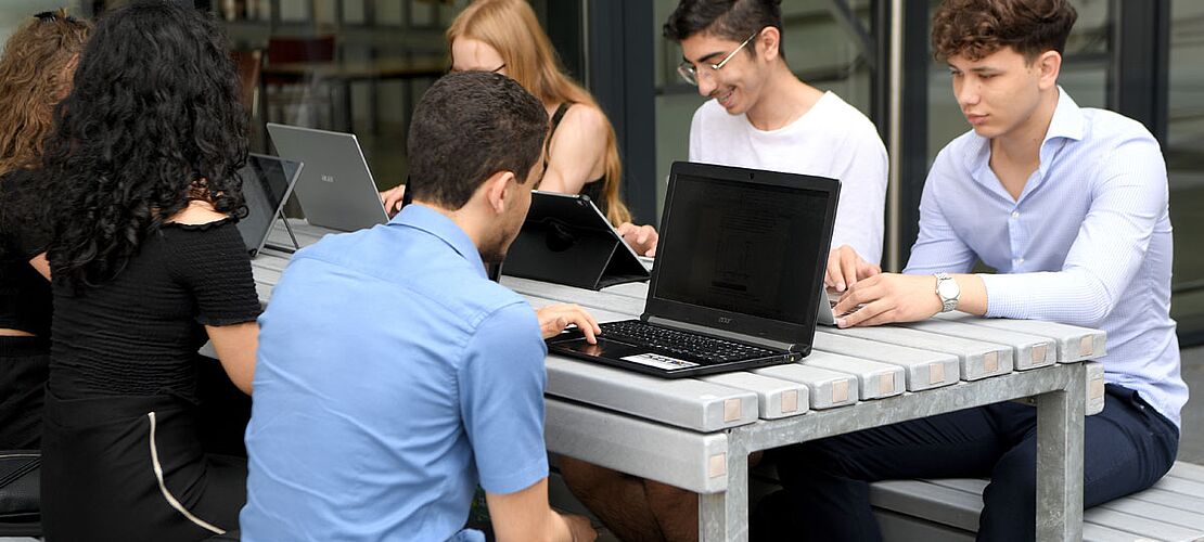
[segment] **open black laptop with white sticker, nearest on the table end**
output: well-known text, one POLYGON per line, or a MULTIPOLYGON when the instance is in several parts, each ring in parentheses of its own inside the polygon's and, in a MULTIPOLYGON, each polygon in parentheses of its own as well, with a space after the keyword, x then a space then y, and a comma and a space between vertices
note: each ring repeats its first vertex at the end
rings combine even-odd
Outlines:
POLYGON ((810 354, 840 182, 674 163, 656 266, 638 320, 579 331, 550 352, 666 378, 810 354))

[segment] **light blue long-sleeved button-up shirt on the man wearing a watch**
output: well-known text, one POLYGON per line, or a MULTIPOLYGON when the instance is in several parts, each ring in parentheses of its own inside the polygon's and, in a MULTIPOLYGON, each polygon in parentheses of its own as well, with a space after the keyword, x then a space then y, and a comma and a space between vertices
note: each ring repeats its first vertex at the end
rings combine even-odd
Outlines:
POLYGON ((964 273, 981 259, 987 317, 1108 332, 1104 378, 1180 425, 1187 385, 1170 319, 1167 169, 1140 123, 1058 89, 1040 166, 1013 200, 973 130, 937 155, 905 273, 964 273))

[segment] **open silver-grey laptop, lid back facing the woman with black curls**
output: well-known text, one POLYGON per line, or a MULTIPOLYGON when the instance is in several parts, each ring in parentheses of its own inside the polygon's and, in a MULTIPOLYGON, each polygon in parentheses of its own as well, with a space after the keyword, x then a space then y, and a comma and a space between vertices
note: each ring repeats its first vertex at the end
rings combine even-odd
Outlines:
POLYGON ((297 201, 309 224, 355 231, 389 222, 354 134, 267 123, 282 158, 303 161, 297 201))

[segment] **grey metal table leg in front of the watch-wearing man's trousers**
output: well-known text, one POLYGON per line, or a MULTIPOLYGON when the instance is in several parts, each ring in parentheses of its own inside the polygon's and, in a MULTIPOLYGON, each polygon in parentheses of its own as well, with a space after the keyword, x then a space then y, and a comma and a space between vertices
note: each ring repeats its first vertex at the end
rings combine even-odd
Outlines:
POLYGON ((1037 397, 1037 540, 1082 540, 1082 434, 1086 367, 1063 390, 1037 397))

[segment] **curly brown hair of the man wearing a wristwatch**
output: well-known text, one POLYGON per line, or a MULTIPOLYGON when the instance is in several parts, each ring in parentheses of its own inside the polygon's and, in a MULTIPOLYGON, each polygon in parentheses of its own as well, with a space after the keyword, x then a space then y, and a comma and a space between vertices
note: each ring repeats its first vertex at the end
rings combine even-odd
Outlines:
POLYGON ((1069 0, 945 0, 932 17, 932 53, 979 60, 1011 47, 1032 61, 1061 54, 1078 17, 1069 0))

